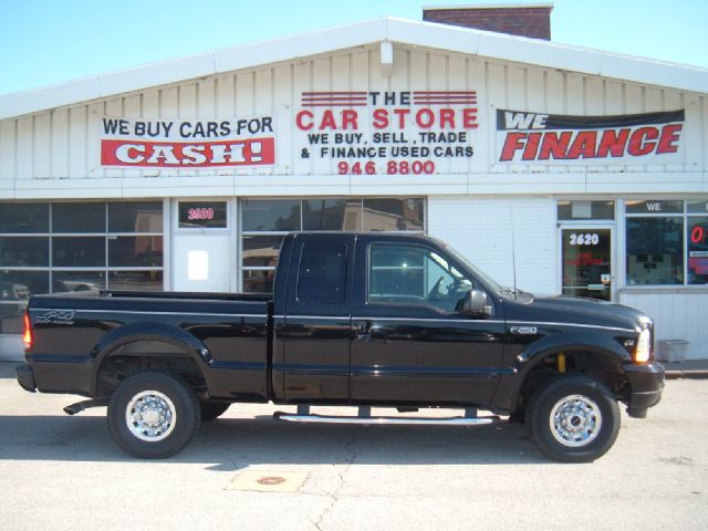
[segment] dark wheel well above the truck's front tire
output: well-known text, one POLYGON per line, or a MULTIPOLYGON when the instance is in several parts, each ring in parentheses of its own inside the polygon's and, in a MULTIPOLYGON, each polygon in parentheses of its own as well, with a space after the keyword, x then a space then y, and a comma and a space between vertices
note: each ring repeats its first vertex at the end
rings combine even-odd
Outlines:
POLYGON ((562 373, 582 374, 602 382, 617 397, 622 396, 627 383, 622 366, 610 353, 577 350, 553 352, 539 360, 527 374, 517 398, 517 408, 523 410, 541 385, 562 373))

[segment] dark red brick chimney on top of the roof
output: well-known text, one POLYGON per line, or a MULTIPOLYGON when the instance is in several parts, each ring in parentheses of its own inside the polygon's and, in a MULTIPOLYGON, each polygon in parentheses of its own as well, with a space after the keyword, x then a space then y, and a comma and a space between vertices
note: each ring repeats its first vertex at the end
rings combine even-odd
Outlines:
POLYGON ((447 6, 423 8, 423 20, 551 40, 552 3, 447 6))

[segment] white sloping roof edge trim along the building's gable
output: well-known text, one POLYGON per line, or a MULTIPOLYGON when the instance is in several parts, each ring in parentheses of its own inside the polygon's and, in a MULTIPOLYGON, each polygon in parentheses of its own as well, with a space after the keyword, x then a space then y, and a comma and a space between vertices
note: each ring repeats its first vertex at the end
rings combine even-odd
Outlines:
POLYGON ((0 119, 384 41, 708 93, 708 69, 468 28, 381 18, 4 94, 0 96, 0 119))

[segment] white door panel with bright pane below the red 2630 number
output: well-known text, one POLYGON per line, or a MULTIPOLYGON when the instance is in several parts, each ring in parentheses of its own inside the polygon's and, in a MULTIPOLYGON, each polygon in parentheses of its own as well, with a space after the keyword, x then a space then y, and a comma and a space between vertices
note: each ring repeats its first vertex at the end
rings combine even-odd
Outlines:
POLYGON ((231 236, 177 235, 175 237, 175 291, 230 291, 231 236))

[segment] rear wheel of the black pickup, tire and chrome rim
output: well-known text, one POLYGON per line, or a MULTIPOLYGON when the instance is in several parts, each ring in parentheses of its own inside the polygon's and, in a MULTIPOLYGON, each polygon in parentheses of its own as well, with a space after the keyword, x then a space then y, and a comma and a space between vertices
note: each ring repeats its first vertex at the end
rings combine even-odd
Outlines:
POLYGON ((174 456, 191 440, 199 421, 192 391, 178 376, 165 373, 125 378, 108 404, 111 435, 127 454, 143 459, 174 456))

